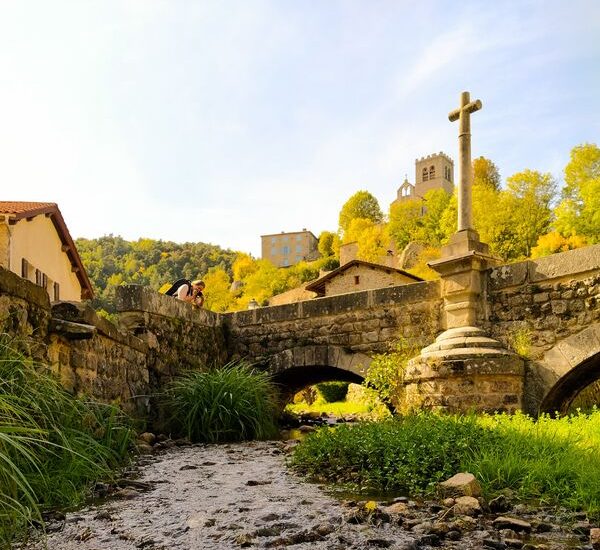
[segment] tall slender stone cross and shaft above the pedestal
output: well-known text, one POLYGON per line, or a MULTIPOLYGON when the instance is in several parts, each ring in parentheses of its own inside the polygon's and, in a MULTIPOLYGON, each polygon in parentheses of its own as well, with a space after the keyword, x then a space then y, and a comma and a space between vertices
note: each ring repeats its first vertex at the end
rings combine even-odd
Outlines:
POLYGON ((481 109, 481 101, 470 101, 469 92, 460 94, 460 107, 448 114, 450 122, 458 120, 458 231, 473 229, 473 207, 471 200, 471 113, 481 109))

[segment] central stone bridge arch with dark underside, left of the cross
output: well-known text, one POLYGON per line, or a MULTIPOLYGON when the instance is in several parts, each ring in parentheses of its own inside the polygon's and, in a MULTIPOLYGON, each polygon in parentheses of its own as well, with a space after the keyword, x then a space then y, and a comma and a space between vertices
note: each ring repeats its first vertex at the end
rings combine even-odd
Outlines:
POLYGON ((302 388, 341 380, 360 384, 372 358, 351 352, 342 346, 298 346, 264 358, 265 364, 280 389, 282 400, 288 401, 302 388))

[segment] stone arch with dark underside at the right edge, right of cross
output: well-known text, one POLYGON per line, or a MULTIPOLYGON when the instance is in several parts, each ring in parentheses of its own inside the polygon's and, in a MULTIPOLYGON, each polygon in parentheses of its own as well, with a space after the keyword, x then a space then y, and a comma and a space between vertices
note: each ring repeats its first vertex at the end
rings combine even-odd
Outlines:
POLYGON ((583 389, 600 380, 600 323, 562 340, 542 365, 546 391, 540 412, 564 414, 583 389))

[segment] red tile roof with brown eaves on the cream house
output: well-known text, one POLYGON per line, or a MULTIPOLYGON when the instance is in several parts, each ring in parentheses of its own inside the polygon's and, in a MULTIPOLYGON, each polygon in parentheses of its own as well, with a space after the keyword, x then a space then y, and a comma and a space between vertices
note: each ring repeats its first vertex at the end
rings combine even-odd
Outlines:
POLYGON ((94 297, 94 291, 92 289, 92 283, 88 278, 88 275, 83 267, 79 253, 65 220, 58 209, 58 205, 54 202, 21 202, 21 201, 0 201, 0 214, 8 215, 9 223, 16 223, 22 219, 33 218, 39 215, 48 216, 56 232, 60 237, 60 241, 66 248, 65 253, 71 262, 79 284, 81 285, 81 298, 82 300, 91 299, 94 297))

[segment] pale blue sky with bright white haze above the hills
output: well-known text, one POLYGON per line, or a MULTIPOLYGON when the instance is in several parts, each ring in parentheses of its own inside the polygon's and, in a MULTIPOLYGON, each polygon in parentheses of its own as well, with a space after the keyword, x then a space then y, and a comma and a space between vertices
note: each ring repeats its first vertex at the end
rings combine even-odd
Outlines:
POLYGON ((462 91, 473 157, 560 182, 600 144, 600 1, 0 0, 0 198, 260 257, 457 164, 462 91))

